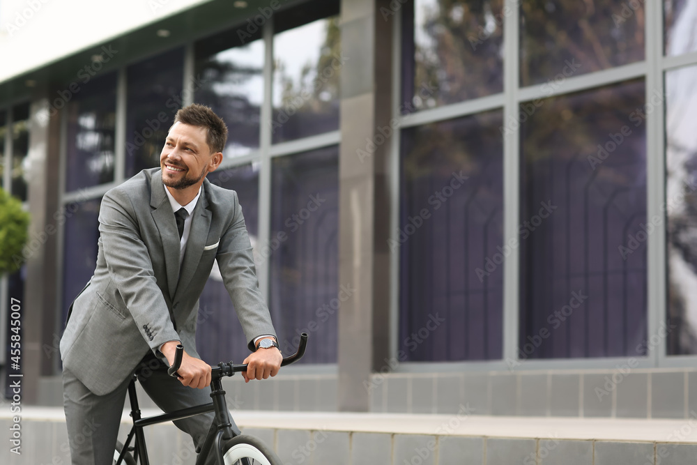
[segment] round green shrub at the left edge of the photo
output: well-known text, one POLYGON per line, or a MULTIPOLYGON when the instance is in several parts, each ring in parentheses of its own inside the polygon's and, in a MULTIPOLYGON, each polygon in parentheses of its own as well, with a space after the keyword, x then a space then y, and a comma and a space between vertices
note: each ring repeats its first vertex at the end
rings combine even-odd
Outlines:
POLYGON ((29 213, 22 210, 22 202, 0 189, 0 275, 13 273, 24 263, 28 229, 29 213))

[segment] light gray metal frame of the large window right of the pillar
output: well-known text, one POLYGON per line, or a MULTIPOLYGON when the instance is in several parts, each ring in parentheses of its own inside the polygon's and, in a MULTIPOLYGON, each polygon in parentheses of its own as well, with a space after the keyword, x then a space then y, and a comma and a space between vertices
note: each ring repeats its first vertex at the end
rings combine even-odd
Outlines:
MULTIPOLYGON (((413 0, 411 0, 413 1, 413 0)), ((412 3, 413 4, 413 3, 412 3)), ((398 121, 397 129, 410 128, 466 116, 503 107, 504 121, 516 119, 519 105, 537 98, 565 95, 576 91, 595 89, 629 79, 645 79, 645 100, 658 92, 664 95, 664 73, 667 70, 697 63, 697 52, 681 56, 664 56, 664 6, 661 2, 645 2, 645 59, 617 68, 572 76, 561 82, 550 93, 546 83, 532 86, 519 84, 520 66, 520 1, 505 0, 505 11, 510 14, 504 18, 504 86, 503 93, 483 98, 466 100, 434 109, 402 115, 400 113, 402 84, 402 24, 403 17, 394 15, 395 27, 392 31, 392 117, 398 121)), ((665 133, 664 109, 648 114, 646 120, 647 144, 647 218, 660 215, 661 205, 666 199, 665 178, 665 133)), ((392 217, 390 218, 391 238, 397 240, 399 227, 399 147, 400 137, 392 137, 391 150, 391 197, 392 217)), ((516 237, 520 222, 521 167, 520 131, 513 130, 504 137, 504 240, 516 237)), ((648 239, 648 333, 647 338, 657 335, 661 324, 666 321, 666 231, 657 229, 648 239)), ((520 257, 512 254, 504 263, 504 305, 503 305, 503 359, 487 362, 447 362, 447 363, 400 363, 395 372, 481 372, 533 369, 613 369, 615 365, 627 363, 621 358, 563 358, 549 360, 518 360, 519 340, 519 276, 520 257)), ((399 252, 392 252, 390 268, 399 270, 399 252)), ((390 282, 390 356, 395 357, 399 350, 399 273, 392 273, 390 282)), ((637 368, 652 367, 697 367, 697 356, 666 356, 666 344, 649 346, 648 355, 636 357, 637 368)))

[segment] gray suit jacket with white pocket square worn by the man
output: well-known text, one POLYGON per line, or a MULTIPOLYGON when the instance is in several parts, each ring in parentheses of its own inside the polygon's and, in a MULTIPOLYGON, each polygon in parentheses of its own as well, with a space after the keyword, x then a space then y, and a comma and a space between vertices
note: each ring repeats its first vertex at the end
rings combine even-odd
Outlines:
POLYGON ((236 192, 204 181, 181 270, 176 221, 159 168, 104 195, 99 231, 94 275, 75 298, 61 339, 63 365, 96 395, 112 392, 148 350, 162 356, 164 342, 181 340, 198 357, 199 296, 213 260, 250 349, 254 337, 275 335, 236 192))

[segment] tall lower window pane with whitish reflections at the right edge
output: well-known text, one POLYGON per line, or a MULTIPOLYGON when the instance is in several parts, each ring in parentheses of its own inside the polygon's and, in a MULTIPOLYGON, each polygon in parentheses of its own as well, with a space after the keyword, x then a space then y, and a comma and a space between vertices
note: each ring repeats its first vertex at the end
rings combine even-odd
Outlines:
POLYGON ((697 353, 697 66, 666 73, 668 355, 697 353))

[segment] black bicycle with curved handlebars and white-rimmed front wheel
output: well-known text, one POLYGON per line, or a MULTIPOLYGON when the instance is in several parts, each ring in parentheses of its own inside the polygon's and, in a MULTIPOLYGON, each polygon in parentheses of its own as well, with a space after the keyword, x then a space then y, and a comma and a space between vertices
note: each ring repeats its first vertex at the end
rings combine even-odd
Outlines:
MULTIPOLYGON (((305 354, 306 345, 307 333, 302 333, 302 335, 300 335, 298 350, 293 355, 284 358, 281 366, 284 367, 300 360, 305 354)), ((180 344, 177 346, 174 363, 167 370, 169 376, 177 376, 176 372, 181 365, 183 353, 184 347, 180 344)), ((211 448, 214 448, 215 452, 217 452, 216 460, 218 465, 282 465, 281 460, 266 444, 256 439, 254 436, 249 436, 247 434, 236 435, 231 428, 230 413, 227 409, 225 391, 222 388, 221 380, 224 376, 233 376, 235 373, 244 372, 246 370, 246 364, 235 365, 232 362, 218 363, 217 366, 211 367, 210 374, 210 397, 213 399, 213 402, 146 418, 141 418, 141 411, 138 406, 135 390, 135 380, 137 377, 134 375, 128 385, 128 398, 131 405, 130 416, 133 419, 133 427, 128 433, 125 444, 121 445, 121 443, 116 443, 114 465, 136 465, 138 461, 141 465, 150 465, 143 432, 144 427, 181 420, 183 418, 189 418, 190 416, 201 415, 202 413, 212 411, 215 412, 215 418, 210 425, 210 429, 208 429, 208 435, 206 436, 204 445, 201 446, 201 450, 196 459, 196 465, 204 463, 211 448), (132 446, 130 446, 131 441, 135 441, 132 446), (134 454, 131 454, 131 452, 134 452, 134 454)))

